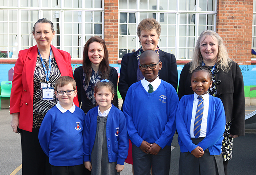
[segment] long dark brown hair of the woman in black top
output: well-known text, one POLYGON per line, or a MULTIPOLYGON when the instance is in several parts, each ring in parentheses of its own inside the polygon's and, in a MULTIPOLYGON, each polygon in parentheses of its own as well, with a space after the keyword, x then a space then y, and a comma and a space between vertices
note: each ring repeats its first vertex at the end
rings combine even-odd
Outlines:
POLYGON ((109 52, 108 49, 106 47, 106 42, 104 41, 104 39, 102 39, 101 37, 95 36, 95 37, 91 37, 86 44, 84 45, 84 49, 83 49, 83 71, 86 75, 85 77, 85 82, 89 83, 90 81, 90 77, 91 77, 91 61, 89 59, 88 56, 88 50, 89 50, 89 45, 93 42, 98 42, 103 46, 104 49, 104 56, 103 59, 101 61, 101 63, 99 64, 99 73, 101 75, 101 79, 108 79, 109 78, 109 52))

